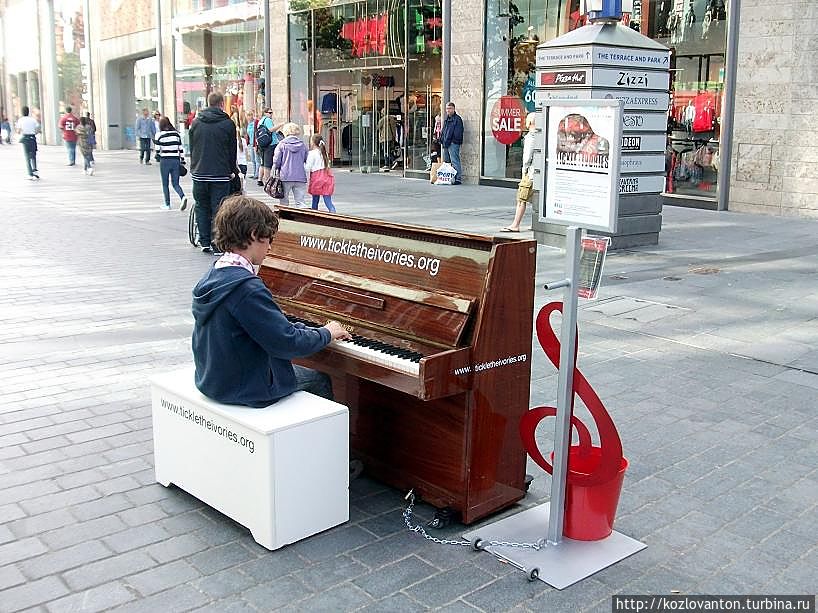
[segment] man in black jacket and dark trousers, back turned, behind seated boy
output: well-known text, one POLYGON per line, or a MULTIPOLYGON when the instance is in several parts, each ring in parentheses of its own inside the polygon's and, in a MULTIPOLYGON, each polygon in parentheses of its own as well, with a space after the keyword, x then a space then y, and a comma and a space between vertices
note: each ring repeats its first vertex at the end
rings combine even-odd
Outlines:
POLYGON ((207 108, 190 126, 190 174, 204 253, 218 253, 211 245, 213 218, 230 194, 230 179, 238 174, 236 126, 223 108, 224 96, 211 92, 207 108))

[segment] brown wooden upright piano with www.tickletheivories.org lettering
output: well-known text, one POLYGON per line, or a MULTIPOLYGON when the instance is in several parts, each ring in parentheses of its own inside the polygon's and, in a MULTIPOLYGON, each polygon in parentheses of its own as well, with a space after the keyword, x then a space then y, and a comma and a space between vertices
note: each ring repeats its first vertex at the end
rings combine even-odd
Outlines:
POLYGON ((259 271, 293 320, 351 327, 332 376, 365 472, 472 523, 525 495, 536 242, 281 207, 259 271))

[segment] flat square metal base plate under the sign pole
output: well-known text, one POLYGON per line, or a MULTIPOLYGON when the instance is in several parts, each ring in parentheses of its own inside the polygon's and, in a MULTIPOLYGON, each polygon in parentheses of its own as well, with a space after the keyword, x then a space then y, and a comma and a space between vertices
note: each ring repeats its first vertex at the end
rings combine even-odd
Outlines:
MULTIPOLYGON (((485 543, 489 541, 536 543, 539 539, 545 539, 548 534, 550 506, 551 503, 546 502, 466 532, 463 538, 469 541, 480 538, 485 543)), ((488 545, 485 550, 524 569, 526 573, 534 568, 538 569, 540 580, 561 590, 624 560, 645 547, 647 545, 644 543, 614 531, 601 541, 575 541, 563 538, 558 545, 546 545, 540 550, 488 545)))

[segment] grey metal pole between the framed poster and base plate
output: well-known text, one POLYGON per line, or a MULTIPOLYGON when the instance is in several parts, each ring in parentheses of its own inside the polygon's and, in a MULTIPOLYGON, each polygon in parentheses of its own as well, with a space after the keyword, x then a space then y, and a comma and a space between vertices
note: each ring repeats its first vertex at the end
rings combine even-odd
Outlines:
POLYGON ((562 299, 560 370, 557 379, 557 419, 554 425, 554 469, 551 478, 551 508, 548 543, 562 541, 565 521, 565 486, 568 475, 568 447, 571 444, 571 409, 574 396, 574 358, 577 341, 577 286, 582 228, 565 229, 565 261, 568 285, 562 299))

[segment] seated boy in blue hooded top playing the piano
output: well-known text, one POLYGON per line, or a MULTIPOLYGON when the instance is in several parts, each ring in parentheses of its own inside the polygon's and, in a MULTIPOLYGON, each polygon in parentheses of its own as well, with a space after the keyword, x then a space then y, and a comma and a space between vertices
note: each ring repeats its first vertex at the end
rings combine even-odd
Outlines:
POLYGON ((278 230, 276 213, 254 198, 231 196, 214 227, 224 255, 193 289, 196 387, 218 402, 250 407, 299 390, 332 400, 326 374, 290 360, 349 339, 349 332, 335 321, 320 328, 290 323, 256 276, 278 230))

